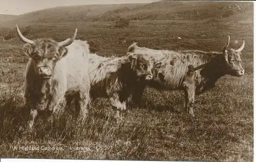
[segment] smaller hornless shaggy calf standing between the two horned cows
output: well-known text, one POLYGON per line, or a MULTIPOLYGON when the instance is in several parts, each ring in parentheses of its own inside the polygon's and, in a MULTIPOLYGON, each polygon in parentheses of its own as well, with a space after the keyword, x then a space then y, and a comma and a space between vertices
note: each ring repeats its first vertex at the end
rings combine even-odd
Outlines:
POLYGON ((140 54, 124 57, 102 57, 89 55, 89 75, 91 80, 91 97, 108 98, 117 108, 115 117, 122 120, 122 111, 126 101, 140 80, 152 79, 152 65, 140 54))

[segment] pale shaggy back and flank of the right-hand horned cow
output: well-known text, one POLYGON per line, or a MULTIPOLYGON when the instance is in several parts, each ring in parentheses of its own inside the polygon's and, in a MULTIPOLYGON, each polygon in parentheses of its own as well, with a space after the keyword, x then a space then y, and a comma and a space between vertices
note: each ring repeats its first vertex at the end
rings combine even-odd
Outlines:
MULTIPOLYGON (((188 65, 199 66, 201 58, 191 52, 176 52, 168 50, 153 50, 135 45, 133 51, 127 55, 142 54, 154 64, 152 86, 177 89, 180 87, 188 65), (155 85, 155 83, 157 83, 155 85)), ((207 60, 205 60, 207 61, 207 60)))

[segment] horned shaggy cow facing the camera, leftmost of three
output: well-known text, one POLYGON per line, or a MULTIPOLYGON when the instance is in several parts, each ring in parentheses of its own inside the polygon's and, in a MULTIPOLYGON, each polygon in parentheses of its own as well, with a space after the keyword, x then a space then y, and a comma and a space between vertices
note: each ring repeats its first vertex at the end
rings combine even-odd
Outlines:
POLYGON ((76 109, 84 118, 90 103, 88 47, 83 41, 75 40, 77 29, 73 37, 62 42, 50 38, 30 40, 23 36, 18 26, 16 29, 19 38, 26 42, 25 54, 30 57, 25 72, 24 95, 30 109, 30 130, 38 113, 58 113, 63 109, 69 89, 79 90, 76 109))

